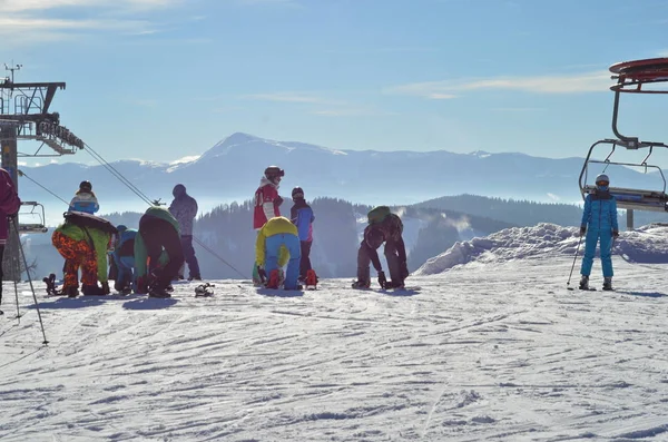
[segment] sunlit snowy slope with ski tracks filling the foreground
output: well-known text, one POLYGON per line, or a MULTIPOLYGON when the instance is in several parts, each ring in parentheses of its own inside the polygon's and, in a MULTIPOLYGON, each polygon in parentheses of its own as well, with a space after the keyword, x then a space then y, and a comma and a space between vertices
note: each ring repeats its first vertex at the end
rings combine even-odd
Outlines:
POLYGON ((567 291, 568 256, 458 266, 403 296, 325 279, 69 299, 37 283, 47 347, 20 284, 0 440, 668 440, 666 266, 613 262, 611 293, 567 291))

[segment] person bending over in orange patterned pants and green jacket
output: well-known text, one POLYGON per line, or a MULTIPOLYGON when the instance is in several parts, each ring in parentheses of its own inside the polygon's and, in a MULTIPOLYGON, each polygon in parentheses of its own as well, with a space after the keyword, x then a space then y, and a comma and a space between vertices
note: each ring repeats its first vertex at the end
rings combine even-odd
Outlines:
POLYGON ((51 243, 65 258, 63 295, 79 295, 79 267, 84 295, 109 293, 107 251, 111 246, 115 232, 116 228, 104 218, 66 214, 65 223, 59 225, 51 236, 51 243), (98 281, 102 284, 101 287, 98 286, 98 281))

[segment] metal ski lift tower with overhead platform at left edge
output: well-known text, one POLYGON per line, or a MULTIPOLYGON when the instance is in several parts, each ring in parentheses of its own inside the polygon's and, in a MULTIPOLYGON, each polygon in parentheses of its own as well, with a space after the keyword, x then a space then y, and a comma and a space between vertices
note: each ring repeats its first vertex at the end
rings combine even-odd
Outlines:
MULTIPOLYGON (((0 148, 1 166, 11 175, 19 188, 19 157, 55 157, 76 154, 84 148, 84 141, 68 128, 60 125, 60 115, 49 112, 49 107, 58 89, 65 89, 65 82, 14 82, 14 71, 21 65, 4 65, 10 76, 0 79, 0 148), (19 153, 18 140, 39 141, 32 153, 19 153), (42 153, 42 148, 48 150, 42 153)), ((20 195, 20 193, 19 193, 20 195)), ((17 226, 21 233, 47 232, 43 206, 37 202, 22 202, 22 206, 41 207, 41 223, 21 224, 21 212, 17 226)), ((14 224, 10 224, 4 259, 4 276, 8 281, 20 281, 19 235, 14 224)))

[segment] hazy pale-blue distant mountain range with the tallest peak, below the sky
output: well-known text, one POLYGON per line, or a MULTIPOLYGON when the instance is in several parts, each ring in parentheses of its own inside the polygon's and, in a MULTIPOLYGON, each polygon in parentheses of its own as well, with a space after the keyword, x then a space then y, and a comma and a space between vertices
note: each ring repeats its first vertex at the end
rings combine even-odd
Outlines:
MULTIPOLYGON (((583 150, 584 153, 584 150, 583 150)), ((104 157, 104 153, 100 153, 104 157)), ((581 158, 552 159, 523 154, 453 154, 434 151, 335 150, 293 141, 273 141, 234 134, 197 158, 175 164, 124 160, 110 166, 150 199, 171 199, 175 184, 186 185, 204 209, 232 200, 250 199, 264 168, 285 169, 281 193, 302 186, 306 197, 330 196, 363 204, 409 204, 444 195, 475 194, 538 202, 581 200, 578 176, 581 158)), ((32 180, 69 202, 79 181, 89 179, 101 213, 146 207, 102 166, 51 164, 22 167, 32 180)), ((660 187, 656 174, 620 168, 617 186, 660 187)), ((65 203, 29 179, 20 180, 24 200, 47 203, 56 212, 65 203)))

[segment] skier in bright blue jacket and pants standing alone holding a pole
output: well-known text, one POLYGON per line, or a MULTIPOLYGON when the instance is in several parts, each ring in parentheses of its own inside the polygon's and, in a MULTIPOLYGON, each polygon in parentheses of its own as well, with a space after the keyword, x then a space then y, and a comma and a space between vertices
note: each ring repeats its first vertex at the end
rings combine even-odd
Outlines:
POLYGON ((593 264, 596 246, 601 242, 601 265, 603 267, 603 289, 612 289, 612 237, 619 236, 617 225, 617 200, 609 190, 610 179, 601 174, 596 177, 596 190, 584 198, 584 212, 580 224, 580 236, 584 238, 584 257, 580 274, 580 289, 589 289, 589 275, 593 264))

